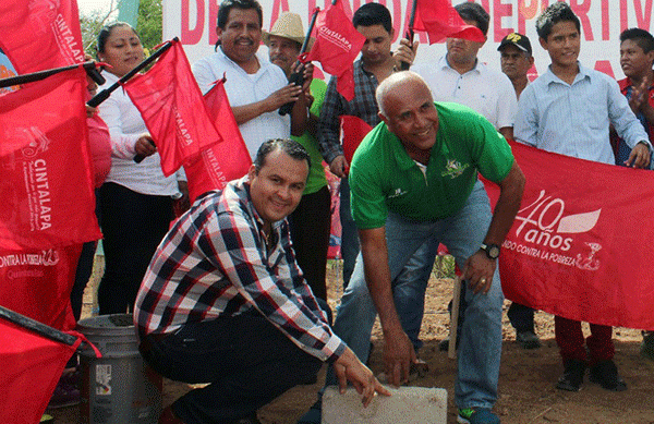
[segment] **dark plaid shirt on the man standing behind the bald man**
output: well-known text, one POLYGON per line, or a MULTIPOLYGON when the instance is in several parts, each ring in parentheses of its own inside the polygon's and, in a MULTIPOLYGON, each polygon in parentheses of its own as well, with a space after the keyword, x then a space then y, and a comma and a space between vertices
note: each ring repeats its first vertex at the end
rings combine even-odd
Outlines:
POLYGON ((318 144, 327 163, 331 163, 334 158, 343 154, 340 143, 342 114, 361 118, 371 126, 382 121, 377 114, 379 108, 375 99, 375 90, 379 83, 373 73, 364 71, 361 59, 354 62, 354 98, 351 101, 337 92, 336 83, 337 77, 331 76, 318 120, 318 144))

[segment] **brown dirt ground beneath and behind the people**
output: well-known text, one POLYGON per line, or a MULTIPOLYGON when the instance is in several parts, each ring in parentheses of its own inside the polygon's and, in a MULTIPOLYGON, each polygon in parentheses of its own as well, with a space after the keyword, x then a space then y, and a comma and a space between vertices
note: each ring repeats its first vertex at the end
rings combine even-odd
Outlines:
MULTIPOLYGON (((340 299, 341 269, 337 261, 329 264, 329 298, 335 310, 340 299)), ((456 361, 449 360, 446 352, 438 350, 438 342, 449 331, 447 302, 451 298, 452 280, 441 275, 433 275, 429 282, 425 317, 421 338, 425 346, 420 355, 429 366, 429 373, 411 384, 422 387, 439 387, 448 391, 448 423, 456 422, 457 409, 453 403, 453 381, 456 361)), ((93 311, 93 284, 87 288, 85 314, 93 311)), ((555 389, 562 373, 558 349, 554 340, 554 319, 545 313, 536 314, 536 332, 543 340, 543 347, 536 350, 523 350, 516 343, 514 331, 504 316, 504 346, 499 376, 499 399, 495 412, 504 424, 562 423, 562 424, 654 424, 654 362, 639 354, 642 340, 640 330, 616 328, 615 362, 627 381, 628 390, 609 392, 600 386, 586 381, 579 392, 555 389)), ((585 328, 588 331, 588 328, 585 328)), ((383 371, 380 359, 383 344, 378 327, 375 328, 373 342, 375 349, 371 367, 375 373, 383 371)), ((263 424, 290 424, 311 407, 316 392, 324 380, 324 370, 318 383, 313 386, 300 386, 289 390, 272 403, 258 412, 263 424)), ((190 388, 180 383, 165 380, 164 405, 168 405, 190 388)), ((80 422, 78 408, 71 407, 47 411, 56 423, 73 424, 80 422)), ((346 423, 343 423, 346 424, 346 423)))

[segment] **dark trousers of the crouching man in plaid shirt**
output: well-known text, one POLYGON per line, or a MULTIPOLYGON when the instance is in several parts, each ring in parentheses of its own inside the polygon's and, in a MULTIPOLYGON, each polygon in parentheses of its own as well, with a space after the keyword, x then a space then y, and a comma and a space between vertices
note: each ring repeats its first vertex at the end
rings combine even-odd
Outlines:
POLYGON ((288 389, 315 381, 322 361, 298 348, 257 312, 189 324, 141 353, 173 380, 210 383, 172 404, 184 423, 229 423, 249 416, 288 389))

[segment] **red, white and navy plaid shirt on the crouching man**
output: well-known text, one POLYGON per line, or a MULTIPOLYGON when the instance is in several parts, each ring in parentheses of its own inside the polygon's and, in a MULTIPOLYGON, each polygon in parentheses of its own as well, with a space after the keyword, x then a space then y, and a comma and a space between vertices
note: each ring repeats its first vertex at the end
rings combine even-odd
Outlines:
POLYGON ((247 177, 198 199, 168 232, 146 271, 134 307, 140 337, 258 312, 305 352, 335 361, 346 344, 334 335, 291 249, 288 221, 264 221, 247 177))

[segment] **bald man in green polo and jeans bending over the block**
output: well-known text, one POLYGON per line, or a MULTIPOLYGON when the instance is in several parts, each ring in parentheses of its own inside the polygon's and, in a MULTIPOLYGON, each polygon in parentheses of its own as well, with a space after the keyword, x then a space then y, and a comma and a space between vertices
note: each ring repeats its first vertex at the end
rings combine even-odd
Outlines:
MULTIPOLYGON (((362 361, 376 313, 389 381, 405 381, 413 346, 400 316, 424 290, 403 292, 396 278, 424 243, 444 243, 463 269, 469 303, 459 349, 459 422, 499 423, 497 400, 504 295, 497 256, 520 207, 524 175, 505 138, 481 114, 434 102, 413 72, 377 88, 383 120, 361 143, 350 169, 352 216, 362 255, 341 300, 335 331, 362 361), (500 186, 491 211, 477 172, 500 186)), ((422 258, 434 264, 434 257, 422 258)), ((431 267, 431 265, 429 265, 431 267)))

